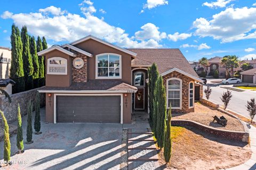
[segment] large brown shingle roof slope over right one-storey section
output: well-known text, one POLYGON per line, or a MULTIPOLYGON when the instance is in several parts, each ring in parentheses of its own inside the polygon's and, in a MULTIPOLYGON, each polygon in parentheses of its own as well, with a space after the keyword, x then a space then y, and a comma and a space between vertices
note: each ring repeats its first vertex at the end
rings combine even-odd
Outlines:
POLYGON ((127 50, 137 53, 137 57, 132 60, 132 65, 138 63, 148 65, 155 62, 160 74, 172 68, 178 68, 198 77, 178 48, 129 48, 127 50))

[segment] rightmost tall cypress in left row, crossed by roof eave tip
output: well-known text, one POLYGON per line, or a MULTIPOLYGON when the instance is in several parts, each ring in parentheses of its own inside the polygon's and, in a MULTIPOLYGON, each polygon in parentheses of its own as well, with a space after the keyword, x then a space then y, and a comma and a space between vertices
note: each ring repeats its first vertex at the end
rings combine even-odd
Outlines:
MULTIPOLYGON (((36 41, 36 50, 37 52, 43 50, 43 44, 41 38, 38 36, 36 41)), ((42 87, 44 85, 44 56, 38 56, 39 61, 39 87, 42 87)))

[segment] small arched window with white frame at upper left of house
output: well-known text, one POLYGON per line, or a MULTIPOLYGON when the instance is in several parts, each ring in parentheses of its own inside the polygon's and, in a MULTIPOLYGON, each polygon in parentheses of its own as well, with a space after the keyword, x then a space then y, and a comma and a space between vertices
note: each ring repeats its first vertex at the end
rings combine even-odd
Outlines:
POLYGON ((67 59, 61 57, 47 59, 47 74, 67 75, 67 70, 67 59))

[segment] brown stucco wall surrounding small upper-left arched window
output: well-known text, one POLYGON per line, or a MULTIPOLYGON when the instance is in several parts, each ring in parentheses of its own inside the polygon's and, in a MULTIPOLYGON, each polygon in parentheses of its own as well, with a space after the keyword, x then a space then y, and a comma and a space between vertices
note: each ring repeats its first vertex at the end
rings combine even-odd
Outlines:
POLYGON ((68 87, 71 84, 71 57, 65 53, 58 50, 51 51, 45 54, 45 85, 52 87, 68 87), (47 74, 47 59, 52 57, 61 57, 67 59, 68 70, 67 75, 48 75, 47 74))

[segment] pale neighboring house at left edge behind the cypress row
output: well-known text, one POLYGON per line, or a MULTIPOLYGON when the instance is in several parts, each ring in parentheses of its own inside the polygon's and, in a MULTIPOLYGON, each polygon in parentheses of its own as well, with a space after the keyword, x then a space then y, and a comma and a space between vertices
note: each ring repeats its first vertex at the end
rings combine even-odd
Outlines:
POLYGON ((12 51, 7 47, 0 47, 0 79, 9 78, 12 51))

